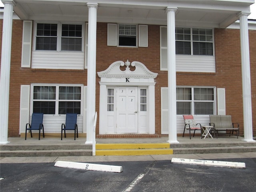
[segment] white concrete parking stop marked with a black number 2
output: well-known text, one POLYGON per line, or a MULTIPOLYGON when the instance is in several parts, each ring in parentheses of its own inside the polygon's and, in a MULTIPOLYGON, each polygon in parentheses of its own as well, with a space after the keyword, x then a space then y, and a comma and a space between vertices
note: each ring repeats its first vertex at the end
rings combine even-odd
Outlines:
POLYGON ((120 173, 123 171, 122 166, 114 165, 102 165, 102 164, 90 164, 90 163, 79 163, 79 162, 68 162, 68 161, 57 161, 54 164, 55 167, 62 168, 73 168, 90 171, 104 171, 104 172, 115 172, 120 173))

